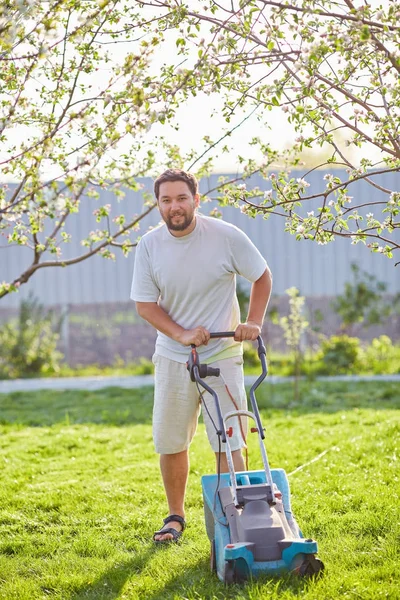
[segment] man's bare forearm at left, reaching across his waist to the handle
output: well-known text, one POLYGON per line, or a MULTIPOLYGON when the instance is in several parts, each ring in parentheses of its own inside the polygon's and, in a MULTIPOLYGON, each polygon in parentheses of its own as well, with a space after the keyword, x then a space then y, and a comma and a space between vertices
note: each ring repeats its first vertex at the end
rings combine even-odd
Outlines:
POLYGON ((139 317, 183 346, 206 345, 210 339, 210 333, 205 327, 184 329, 175 323, 157 302, 136 302, 136 310, 139 317))

